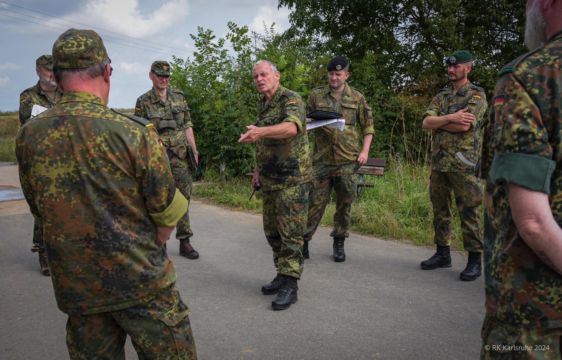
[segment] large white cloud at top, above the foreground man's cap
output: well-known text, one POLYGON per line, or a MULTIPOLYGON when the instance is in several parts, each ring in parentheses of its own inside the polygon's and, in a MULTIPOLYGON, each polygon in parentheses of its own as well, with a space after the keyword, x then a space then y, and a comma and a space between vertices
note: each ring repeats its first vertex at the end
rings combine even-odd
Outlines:
POLYGON ((182 24, 188 15, 187 0, 168 0, 149 15, 141 13, 138 0, 93 0, 81 11, 65 17, 130 37, 144 38, 182 24))

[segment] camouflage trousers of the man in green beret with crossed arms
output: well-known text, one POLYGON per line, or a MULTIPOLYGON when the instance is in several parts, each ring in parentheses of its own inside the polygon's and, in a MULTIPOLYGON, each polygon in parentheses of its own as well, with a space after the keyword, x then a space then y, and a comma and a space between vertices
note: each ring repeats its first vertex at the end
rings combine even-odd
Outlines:
POLYGON ((464 249, 482 252, 482 224, 478 213, 478 206, 482 205, 482 185, 470 172, 431 171, 429 198, 433 204, 433 242, 441 246, 451 244, 451 188, 459 210, 464 249))

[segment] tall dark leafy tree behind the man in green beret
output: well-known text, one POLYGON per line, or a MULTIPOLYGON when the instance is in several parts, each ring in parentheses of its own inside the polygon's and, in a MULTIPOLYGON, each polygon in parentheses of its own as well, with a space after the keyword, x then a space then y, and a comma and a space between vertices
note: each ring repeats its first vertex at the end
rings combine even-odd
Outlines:
POLYGON ((438 89, 450 86, 444 60, 468 49, 470 81, 491 97, 497 72, 525 52, 525 1, 279 0, 292 10, 289 38, 312 38, 350 60, 350 85, 373 107, 371 156, 401 153, 427 160, 432 134, 421 115, 438 89))

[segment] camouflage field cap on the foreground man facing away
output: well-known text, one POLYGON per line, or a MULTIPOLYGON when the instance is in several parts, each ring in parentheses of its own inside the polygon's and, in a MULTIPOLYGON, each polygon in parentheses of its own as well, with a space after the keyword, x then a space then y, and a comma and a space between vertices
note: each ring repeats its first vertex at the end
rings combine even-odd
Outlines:
POLYGON ((102 38, 93 30, 68 29, 53 44, 53 65, 65 69, 83 69, 107 58, 102 38))

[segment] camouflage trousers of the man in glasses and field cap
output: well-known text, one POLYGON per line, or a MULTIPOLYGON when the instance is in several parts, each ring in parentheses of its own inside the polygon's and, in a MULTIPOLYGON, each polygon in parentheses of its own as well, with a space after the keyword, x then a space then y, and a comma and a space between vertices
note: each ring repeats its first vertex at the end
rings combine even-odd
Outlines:
MULTIPOLYGON (((168 158, 170 160, 170 167, 172 175, 176 182, 176 188, 189 202, 191 200, 191 192, 193 190, 193 183, 191 179, 191 169, 189 168, 189 160, 182 159, 170 150, 167 150, 168 158), (171 154, 170 154, 171 153, 171 154)), ((189 239, 193 236, 191 227, 189 227, 189 208, 185 215, 178 221, 176 227, 176 239, 189 239)))

